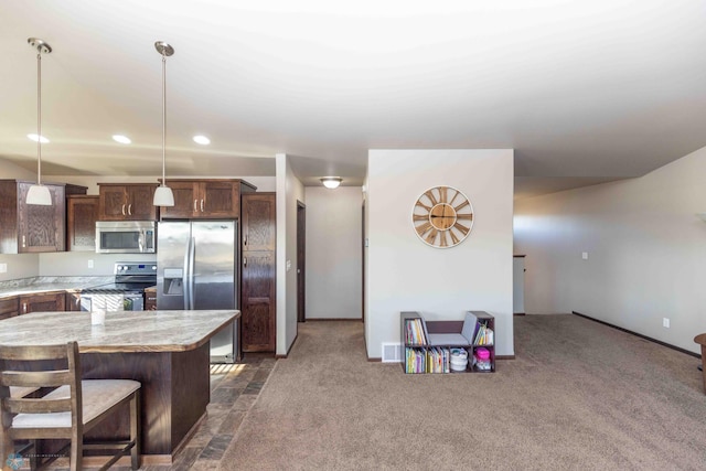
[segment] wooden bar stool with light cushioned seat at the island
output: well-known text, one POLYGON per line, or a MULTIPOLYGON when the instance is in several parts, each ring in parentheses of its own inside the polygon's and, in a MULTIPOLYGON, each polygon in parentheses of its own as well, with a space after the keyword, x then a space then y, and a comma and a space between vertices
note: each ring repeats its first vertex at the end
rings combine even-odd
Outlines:
POLYGON ((140 383, 131 379, 81 381, 78 344, 8 346, 0 345, 0 451, 2 463, 14 454, 15 440, 69 439, 71 442, 43 463, 29 460, 32 469, 54 461, 71 450, 71 470, 83 469, 85 449, 110 451, 101 468, 108 469, 120 457, 130 454, 132 469, 139 468, 139 393, 140 383), (57 366, 60 365, 60 366, 57 366), (38 371, 39 370, 39 371, 38 371), (10 388, 14 394, 10 393, 10 388), (20 388, 50 390, 42 397, 19 396, 20 388), (84 443, 84 432, 124 404, 130 408, 128 440, 84 443))

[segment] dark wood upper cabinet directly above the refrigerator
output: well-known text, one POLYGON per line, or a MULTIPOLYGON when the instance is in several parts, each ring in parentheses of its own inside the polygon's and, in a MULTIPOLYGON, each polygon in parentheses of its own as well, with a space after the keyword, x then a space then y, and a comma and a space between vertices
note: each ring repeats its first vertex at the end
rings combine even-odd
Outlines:
POLYGON ((257 190, 243 180, 169 179, 167 185, 174 193, 174 205, 162 206, 162 220, 238 218, 240 193, 257 190))

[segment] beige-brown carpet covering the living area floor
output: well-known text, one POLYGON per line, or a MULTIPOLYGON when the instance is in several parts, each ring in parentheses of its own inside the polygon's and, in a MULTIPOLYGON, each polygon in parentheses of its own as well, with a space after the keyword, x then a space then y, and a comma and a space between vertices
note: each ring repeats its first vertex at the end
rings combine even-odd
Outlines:
POLYGON ((360 322, 299 324, 220 469, 706 469, 698 358, 570 314, 515 318, 515 353, 405 375, 360 322))

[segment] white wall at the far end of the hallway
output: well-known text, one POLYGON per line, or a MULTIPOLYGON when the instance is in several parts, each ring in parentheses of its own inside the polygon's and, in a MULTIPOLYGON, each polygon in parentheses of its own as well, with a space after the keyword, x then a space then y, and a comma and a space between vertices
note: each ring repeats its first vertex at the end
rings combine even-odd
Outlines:
POLYGON ((360 186, 308 186, 307 319, 362 317, 360 186))

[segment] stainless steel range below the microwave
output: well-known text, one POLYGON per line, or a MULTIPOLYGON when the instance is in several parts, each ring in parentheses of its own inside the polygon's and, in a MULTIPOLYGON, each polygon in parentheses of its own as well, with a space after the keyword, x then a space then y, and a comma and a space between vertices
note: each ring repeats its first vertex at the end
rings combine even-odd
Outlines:
POLYGON ((141 311, 145 309, 145 288, 157 285, 157 263, 118 261, 115 281, 81 291, 81 310, 93 308, 108 311, 141 311))

